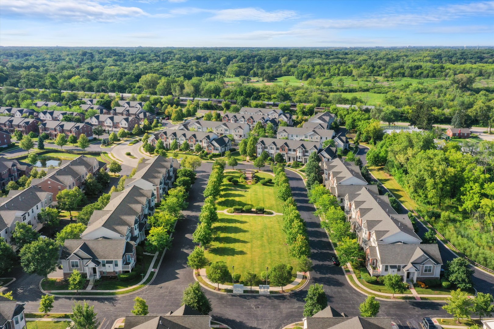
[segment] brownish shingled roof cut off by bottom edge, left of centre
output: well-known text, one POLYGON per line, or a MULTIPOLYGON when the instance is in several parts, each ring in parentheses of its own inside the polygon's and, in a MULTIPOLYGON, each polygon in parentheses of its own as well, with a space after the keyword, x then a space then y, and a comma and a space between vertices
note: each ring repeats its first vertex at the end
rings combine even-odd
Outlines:
POLYGON ((165 315, 126 316, 124 329, 211 329, 211 317, 187 305, 165 315))

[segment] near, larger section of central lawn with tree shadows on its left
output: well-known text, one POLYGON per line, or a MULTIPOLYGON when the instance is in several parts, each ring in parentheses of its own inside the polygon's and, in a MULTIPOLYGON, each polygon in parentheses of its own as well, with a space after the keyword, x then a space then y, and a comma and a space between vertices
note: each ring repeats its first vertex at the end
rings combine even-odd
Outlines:
POLYGON ((281 216, 218 214, 218 217, 212 226, 213 242, 206 250, 209 261, 224 261, 230 271, 235 266, 235 273, 242 275, 247 270, 260 275, 266 266, 279 263, 290 264, 296 271, 297 260, 288 255, 281 216))

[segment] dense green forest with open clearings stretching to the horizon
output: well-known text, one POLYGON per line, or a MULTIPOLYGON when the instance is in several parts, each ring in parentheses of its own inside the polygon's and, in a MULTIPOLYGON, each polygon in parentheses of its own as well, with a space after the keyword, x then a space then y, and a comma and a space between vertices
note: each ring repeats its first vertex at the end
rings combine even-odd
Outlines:
MULTIPOLYGON (((408 122, 420 101, 430 112, 424 127, 450 123, 455 114, 463 126, 492 124, 493 81, 490 48, 0 48, 2 86, 234 99, 244 106, 380 105, 398 109, 394 121, 408 122), (289 79, 272 83, 282 77, 289 79)), ((70 105, 59 93, 33 93, 70 105)), ((21 106, 17 93, 6 94, 0 105, 21 106)))

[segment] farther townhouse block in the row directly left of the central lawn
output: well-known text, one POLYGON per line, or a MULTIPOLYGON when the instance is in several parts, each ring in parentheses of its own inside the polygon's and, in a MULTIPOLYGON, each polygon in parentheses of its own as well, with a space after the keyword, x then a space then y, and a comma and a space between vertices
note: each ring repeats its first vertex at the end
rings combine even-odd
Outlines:
POLYGON ((180 169, 180 164, 175 159, 166 159, 162 156, 144 159, 137 165, 134 176, 125 180, 125 187, 138 186, 142 189, 153 190, 156 203, 160 203, 168 190, 173 187, 178 169, 180 169))

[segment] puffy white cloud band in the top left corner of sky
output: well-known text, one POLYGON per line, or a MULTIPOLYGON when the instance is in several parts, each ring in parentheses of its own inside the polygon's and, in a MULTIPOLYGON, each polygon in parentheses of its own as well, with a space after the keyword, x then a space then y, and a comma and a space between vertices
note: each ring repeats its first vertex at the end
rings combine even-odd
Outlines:
POLYGON ((111 22, 142 16, 169 17, 168 14, 151 15, 138 7, 126 7, 119 4, 103 5, 93 0, 1 0, 0 11, 5 16, 36 16, 78 22, 111 22))

